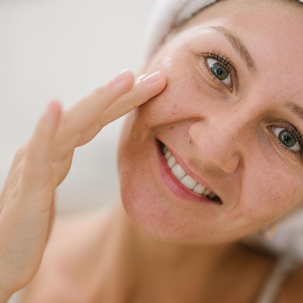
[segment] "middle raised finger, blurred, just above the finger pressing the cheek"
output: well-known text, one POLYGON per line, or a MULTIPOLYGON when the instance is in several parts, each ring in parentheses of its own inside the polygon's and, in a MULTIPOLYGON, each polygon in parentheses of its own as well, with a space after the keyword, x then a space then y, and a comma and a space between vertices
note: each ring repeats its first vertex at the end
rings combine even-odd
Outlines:
POLYGON ((96 88, 65 111, 65 130, 72 133, 83 132, 109 105, 128 92, 133 82, 134 75, 125 69, 112 81, 96 88))

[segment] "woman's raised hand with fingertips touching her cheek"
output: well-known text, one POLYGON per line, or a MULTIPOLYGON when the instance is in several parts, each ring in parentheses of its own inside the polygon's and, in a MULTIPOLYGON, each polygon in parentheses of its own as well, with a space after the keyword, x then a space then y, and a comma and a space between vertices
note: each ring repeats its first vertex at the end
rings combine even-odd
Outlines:
POLYGON ((151 84, 134 83, 133 74, 124 71, 64 112, 58 101, 49 102, 32 137, 17 151, 0 194, 0 302, 38 271, 54 215, 54 191, 70 170, 75 148, 158 95, 166 78, 161 72, 155 76, 158 81, 151 84))

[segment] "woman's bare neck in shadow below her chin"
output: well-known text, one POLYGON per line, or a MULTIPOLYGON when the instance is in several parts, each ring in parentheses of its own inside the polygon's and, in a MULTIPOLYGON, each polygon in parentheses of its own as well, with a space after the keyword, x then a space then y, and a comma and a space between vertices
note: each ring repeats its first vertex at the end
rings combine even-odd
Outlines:
POLYGON ((215 274, 240 246, 238 243, 203 246, 162 241, 135 226, 119 200, 110 209, 105 226, 106 239, 102 247, 107 249, 103 257, 108 267, 105 274, 102 257, 102 275, 106 281, 101 285, 110 298, 106 302, 125 301, 134 292, 132 302, 148 302, 147 298, 153 302, 178 302, 179 291, 183 297, 188 295, 187 301, 201 298, 211 277, 215 279, 215 274))

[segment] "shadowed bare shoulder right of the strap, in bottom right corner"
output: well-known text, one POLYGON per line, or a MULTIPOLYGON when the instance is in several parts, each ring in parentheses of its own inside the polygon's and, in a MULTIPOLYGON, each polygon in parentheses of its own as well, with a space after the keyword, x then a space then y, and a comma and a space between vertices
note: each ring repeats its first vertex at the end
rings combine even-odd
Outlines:
POLYGON ((303 263, 298 264, 285 278, 276 303, 303 302, 303 263))

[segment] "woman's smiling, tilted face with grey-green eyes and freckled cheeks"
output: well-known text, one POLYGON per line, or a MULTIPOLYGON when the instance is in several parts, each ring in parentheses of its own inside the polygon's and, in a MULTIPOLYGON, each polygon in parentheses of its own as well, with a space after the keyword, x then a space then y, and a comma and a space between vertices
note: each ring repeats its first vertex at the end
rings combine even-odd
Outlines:
POLYGON ((125 210, 149 234, 230 242, 301 205, 303 7, 270 2, 205 8, 145 67, 167 85, 128 115, 118 171, 125 210), (186 189, 159 142, 222 203, 186 189))

